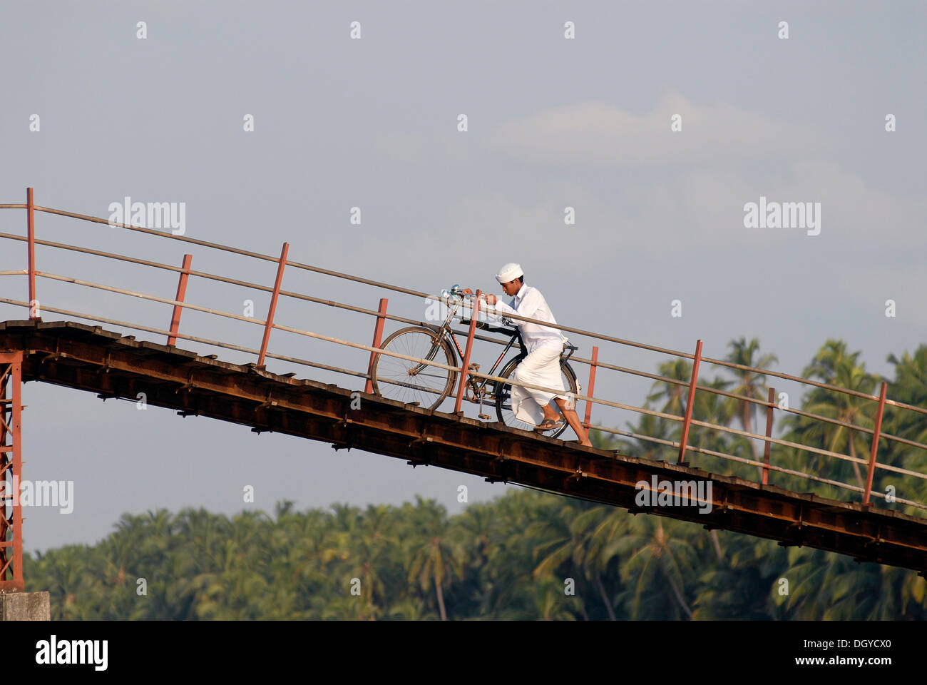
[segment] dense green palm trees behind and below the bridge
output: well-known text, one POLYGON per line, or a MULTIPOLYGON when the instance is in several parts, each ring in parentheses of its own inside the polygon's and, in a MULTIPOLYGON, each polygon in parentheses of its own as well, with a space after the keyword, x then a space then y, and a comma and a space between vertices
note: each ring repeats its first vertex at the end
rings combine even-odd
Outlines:
MULTIPOLYGON (((766 368, 758 344, 730 342, 728 360, 766 368)), ((867 394, 871 376, 844 342, 829 341, 804 375, 867 394)), ((927 346, 892 355, 889 397, 927 407, 927 346)), ((762 376, 718 368, 702 384, 765 401, 762 376)), ((683 361, 661 365, 661 376, 688 381, 683 361)), ((654 383, 648 407, 679 414, 680 385, 654 383)), ((741 400, 699 393, 696 419, 762 432, 765 411, 741 400), (757 417, 760 423, 757 428, 757 417)), ((762 407, 761 407, 762 408, 762 407)), ((875 403, 814 388, 803 411, 871 428, 875 403)), ((870 433, 791 415, 784 439, 869 456, 870 433)), ((679 440, 679 423, 641 416, 634 433, 679 440)), ((927 439, 924 415, 886 407, 883 432, 927 439)), ((609 440, 600 446, 652 459, 675 450, 609 440)), ((762 458, 762 444, 693 428, 690 445, 743 459, 762 458)), ((755 466, 691 453, 709 472, 756 481, 755 466)), ((883 440, 879 460, 927 472, 924 450, 883 440)), ((865 465, 774 446, 771 463, 863 485, 865 465)), ((878 472, 874 491, 894 485, 898 498, 927 501, 922 479, 878 472)), ((857 493, 773 472, 770 483, 823 497, 859 501, 857 493)), ((924 511, 885 503, 923 516, 924 511)), ((912 571, 817 549, 775 542, 695 523, 638 514, 531 490, 470 504, 449 517, 433 500, 401 507, 334 506, 274 516, 245 511, 229 519, 207 511, 125 514, 94 547, 69 546, 27 557, 27 589, 47 589, 57 619, 927 619, 925 580, 912 571), (146 594, 138 593, 145 579, 146 594), (783 580, 788 592, 782 593, 783 580)))

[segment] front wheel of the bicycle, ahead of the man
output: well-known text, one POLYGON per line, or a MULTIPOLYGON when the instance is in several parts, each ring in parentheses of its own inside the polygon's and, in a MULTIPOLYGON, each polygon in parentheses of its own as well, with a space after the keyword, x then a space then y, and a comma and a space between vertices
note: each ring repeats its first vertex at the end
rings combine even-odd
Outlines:
MULTIPOLYGON (((387 352, 438 362, 452 367, 456 355, 448 349, 438 332, 418 326, 397 330, 381 345, 387 352)), ((457 372, 409 361, 398 356, 377 354, 371 381, 374 392, 397 402, 417 402, 419 407, 435 409, 451 394, 457 372)))

